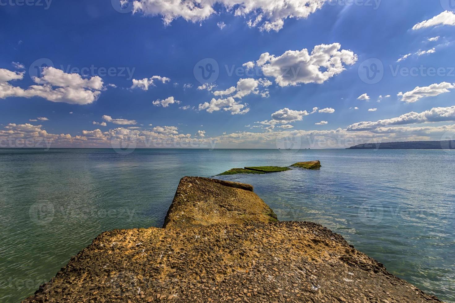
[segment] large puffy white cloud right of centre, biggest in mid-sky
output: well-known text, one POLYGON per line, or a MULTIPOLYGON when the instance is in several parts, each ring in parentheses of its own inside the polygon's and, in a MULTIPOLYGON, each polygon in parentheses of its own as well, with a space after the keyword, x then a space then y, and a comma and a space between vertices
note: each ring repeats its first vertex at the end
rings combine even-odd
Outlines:
POLYGON ((316 45, 311 54, 307 49, 288 50, 278 57, 263 53, 256 64, 265 76, 274 77, 280 86, 321 84, 343 72, 344 65, 353 65, 357 61, 354 52, 340 51, 340 48, 339 43, 333 43, 316 45))

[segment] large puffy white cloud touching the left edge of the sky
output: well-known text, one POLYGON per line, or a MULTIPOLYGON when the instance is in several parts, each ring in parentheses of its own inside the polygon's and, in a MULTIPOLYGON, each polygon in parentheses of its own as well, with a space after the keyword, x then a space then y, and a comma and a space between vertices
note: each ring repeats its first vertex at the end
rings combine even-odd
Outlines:
POLYGON ((42 77, 33 77, 36 84, 28 89, 12 86, 9 81, 23 79, 24 72, 0 69, 0 99, 7 97, 41 97, 52 102, 69 104, 91 104, 98 99, 103 89, 99 76, 82 78, 78 74, 66 74, 54 67, 42 69, 42 77))

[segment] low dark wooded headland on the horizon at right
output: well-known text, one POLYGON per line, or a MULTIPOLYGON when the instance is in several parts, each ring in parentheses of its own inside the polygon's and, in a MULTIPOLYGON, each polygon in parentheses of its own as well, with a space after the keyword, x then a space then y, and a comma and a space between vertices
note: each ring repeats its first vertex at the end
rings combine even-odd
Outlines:
POLYGON ((347 149, 455 149, 455 141, 378 142, 358 144, 347 149))

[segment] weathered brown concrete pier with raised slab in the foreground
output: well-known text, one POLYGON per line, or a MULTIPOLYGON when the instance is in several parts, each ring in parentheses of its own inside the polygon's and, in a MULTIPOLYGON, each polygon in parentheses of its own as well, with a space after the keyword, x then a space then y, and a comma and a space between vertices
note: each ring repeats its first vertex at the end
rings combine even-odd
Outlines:
POLYGON ((182 178, 164 228, 101 233, 24 302, 440 302, 248 184, 182 178))

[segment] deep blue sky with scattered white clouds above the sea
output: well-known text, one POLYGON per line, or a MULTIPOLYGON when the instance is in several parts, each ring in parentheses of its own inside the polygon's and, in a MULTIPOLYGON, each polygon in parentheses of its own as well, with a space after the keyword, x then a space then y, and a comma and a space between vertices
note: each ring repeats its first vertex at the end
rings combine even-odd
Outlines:
POLYGON ((455 136, 455 0, 0 0, 0 147, 455 136))

